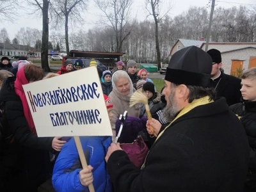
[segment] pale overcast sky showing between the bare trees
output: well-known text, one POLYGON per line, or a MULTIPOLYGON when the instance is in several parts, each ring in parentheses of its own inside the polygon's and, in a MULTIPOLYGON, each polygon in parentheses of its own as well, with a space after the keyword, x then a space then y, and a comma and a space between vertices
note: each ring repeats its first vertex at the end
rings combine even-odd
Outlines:
MULTIPOLYGON (((209 0, 162 0, 162 2, 163 4, 168 4, 168 2, 172 3, 172 10, 169 13, 170 17, 174 17, 175 15, 179 15, 182 12, 186 12, 189 6, 207 7, 207 5, 211 5, 211 2, 209 0)), ((256 6, 256 1, 255 0, 227 0, 227 1, 216 0, 216 8, 218 6, 222 6, 225 8, 230 8, 232 6, 239 7, 241 4, 255 4, 256 6)), ((211 9, 210 6, 208 6, 208 10, 210 9, 211 9)), ((163 10, 163 12, 164 11, 165 10, 163 10)), ((132 4, 131 12, 132 12, 131 14, 132 17, 136 17, 139 20, 144 20, 147 17, 147 12, 145 11, 145 0, 134 0, 134 3, 132 4)), ((15 12, 13 12, 12 14, 15 15, 15 12)), ((93 3, 93 0, 90 0, 90 3, 88 3, 88 10, 85 13, 83 13, 85 24, 83 26, 81 26, 80 24, 77 24, 76 27, 69 26, 70 31, 72 32, 72 31, 77 31, 79 29, 86 30, 88 28, 93 28, 93 26, 95 25, 95 22, 99 20, 99 14, 100 14, 100 10, 97 9, 97 6, 95 6, 95 4, 93 3)), ((148 19, 152 19, 152 18, 148 17, 148 19)), ((42 19, 39 17, 35 17, 35 15, 27 15, 26 12, 22 11, 22 15, 19 18, 17 18, 13 23, 10 23, 10 22, 3 23, 1 22, 1 19, 0 19, 0 26, 1 26, 0 29, 1 28, 7 29, 8 35, 12 40, 15 37, 15 33, 17 33, 17 31, 19 31, 19 29, 22 27, 37 28, 42 30, 42 19)), ((51 35, 51 26, 49 27, 49 29, 50 29, 50 35, 51 35)))

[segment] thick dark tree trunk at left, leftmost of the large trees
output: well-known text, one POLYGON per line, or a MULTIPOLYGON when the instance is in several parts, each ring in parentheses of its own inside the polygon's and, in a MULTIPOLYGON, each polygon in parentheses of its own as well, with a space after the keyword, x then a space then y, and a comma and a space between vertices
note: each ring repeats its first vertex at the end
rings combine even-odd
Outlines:
POLYGON ((28 0, 29 5, 35 8, 35 13, 40 12, 43 19, 41 65, 45 72, 51 72, 48 63, 48 44, 49 44, 49 7, 50 0, 28 0))

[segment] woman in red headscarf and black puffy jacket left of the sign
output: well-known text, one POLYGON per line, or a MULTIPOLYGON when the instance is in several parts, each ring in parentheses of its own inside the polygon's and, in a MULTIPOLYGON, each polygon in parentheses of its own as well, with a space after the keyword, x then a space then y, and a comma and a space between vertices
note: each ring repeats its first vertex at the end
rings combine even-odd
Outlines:
POLYGON ((38 186, 51 177, 49 151, 60 151, 66 143, 58 137, 38 138, 36 134, 22 85, 40 81, 43 77, 42 68, 33 64, 25 65, 18 70, 16 79, 8 77, 4 81, 0 92, 0 100, 4 102, 4 117, 13 134, 13 141, 21 152, 20 172, 17 172, 20 177, 15 180, 15 185, 19 186, 20 191, 37 191, 38 186))

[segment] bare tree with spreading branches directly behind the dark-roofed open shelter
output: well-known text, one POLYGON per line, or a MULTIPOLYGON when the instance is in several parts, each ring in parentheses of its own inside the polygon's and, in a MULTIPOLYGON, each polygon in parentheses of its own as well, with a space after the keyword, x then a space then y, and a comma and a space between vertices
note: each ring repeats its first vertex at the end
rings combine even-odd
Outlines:
POLYGON ((115 51, 122 52, 122 45, 131 34, 127 28, 132 0, 94 0, 103 12, 104 24, 113 29, 115 34, 115 51))

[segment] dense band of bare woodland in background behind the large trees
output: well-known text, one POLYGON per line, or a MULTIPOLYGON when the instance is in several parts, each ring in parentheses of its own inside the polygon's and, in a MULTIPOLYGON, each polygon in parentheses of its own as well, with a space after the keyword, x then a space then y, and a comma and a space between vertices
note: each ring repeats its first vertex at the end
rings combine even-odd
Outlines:
MULTIPOLYGON (((161 61, 168 62, 170 50, 177 39, 199 40, 201 37, 205 37, 209 23, 208 15, 205 6, 191 7, 174 18, 166 15, 159 22, 161 61)), ((211 41, 255 42, 255 18, 256 12, 253 12, 253 10, 248 12, 244 11, 243 8, 217 7, 212 23, 211 41)), ((129 21, 125 28, 132 29, 136 33, 131 33, 123 42, 122 51, 125 52, 125 55, 122 56, 122 60, 134 59, 141 63, 154 63, 157 60, 155 26, 153 19, 145 19, 143 21, 134 19, 129 21)), ((60 42, 60 47, 63 46, 65 44, 65 36, 61 33, 53 32, 51 33, 52 38, 57 43, 60 42), (55 37, 53 37, 54 34, 55 37)), ((116 51, 116 33, 113 28, 106 28, 104 25, 96 26, 88 31, 80 30, 76 33, 71 33, 69 42, 70 49, 72 47, 72 49, 84 51, 116 51)), ((65 49, 65 47, 61 49, 65 49)))

